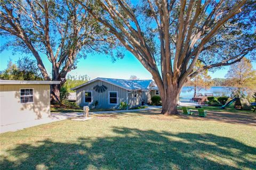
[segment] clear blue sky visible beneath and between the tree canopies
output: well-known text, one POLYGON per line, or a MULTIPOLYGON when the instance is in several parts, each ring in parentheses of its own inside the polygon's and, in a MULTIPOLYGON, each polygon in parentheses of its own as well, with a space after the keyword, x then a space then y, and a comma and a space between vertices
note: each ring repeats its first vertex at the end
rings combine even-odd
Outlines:
MULTIPOLYGON (((0 38, 1 45, 4 42, 0 38)), ((6 69, 8 61, 17 61, 19 57, 26 54, 12 54, 12 50, 4 50, 0 53, 0 70, 6 69)), ((33 56, 31 58, 34 59, 33 56)), ((42 58, 48 73, 51 73, 51 63, 47 58, 42 58)), ((256 69, 256 63, 253 63, 256 69)), ((210 72, 212 78, 225 78, 229 67, 222 67, 214 73, 210 72)), ((71 75, 89 75, 91 79, 97 77, 129 79, 131 75, 136 75, 139 79, 152 79, 151 74, 141 65, 141 63, 130 52, 125 53, 123 59, 118 59, 116 62, 111 62, 111 58, 104 54, 89 54, 86 59, 81 59, 77 64, 77 69, 69 72, 71 75)))

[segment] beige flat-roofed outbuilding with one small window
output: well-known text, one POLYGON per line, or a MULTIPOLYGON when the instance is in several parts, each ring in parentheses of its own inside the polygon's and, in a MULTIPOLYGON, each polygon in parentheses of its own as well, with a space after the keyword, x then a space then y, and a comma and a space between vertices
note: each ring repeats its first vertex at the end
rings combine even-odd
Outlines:
POLYGON ((1 126, 50 116, 50 84, 59 83, 0 80, 1 126))

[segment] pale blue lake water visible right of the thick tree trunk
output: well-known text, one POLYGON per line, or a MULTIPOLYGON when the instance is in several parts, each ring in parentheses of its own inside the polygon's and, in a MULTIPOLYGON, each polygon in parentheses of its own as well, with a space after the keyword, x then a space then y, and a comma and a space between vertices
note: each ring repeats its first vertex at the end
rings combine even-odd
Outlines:
MULTIPOLYGON (((211 93, 213 96, 230 96, 231 88, 230 87, 221 87, 221 86, 213 86, 208 90, 200 90, 196 91, 197 93, 201 93, 204 95, 205 93, 211 93)), ((182 99, 190 99, 194 96, 194 88, 193 87, 183 87, 180 93, 180 98, 182 99)))

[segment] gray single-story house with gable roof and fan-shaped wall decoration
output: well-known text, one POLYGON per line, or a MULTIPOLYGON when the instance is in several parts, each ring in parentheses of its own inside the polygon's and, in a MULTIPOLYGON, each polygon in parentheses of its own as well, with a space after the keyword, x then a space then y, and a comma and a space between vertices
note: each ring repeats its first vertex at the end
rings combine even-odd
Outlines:
POLYGON ((96 78, 71 90, 76 90, 78 106, 97 104, 98 108, 118 108, 121 102, 131 108, 150 103, 151 96, 159 95, 153 80, 96 78))

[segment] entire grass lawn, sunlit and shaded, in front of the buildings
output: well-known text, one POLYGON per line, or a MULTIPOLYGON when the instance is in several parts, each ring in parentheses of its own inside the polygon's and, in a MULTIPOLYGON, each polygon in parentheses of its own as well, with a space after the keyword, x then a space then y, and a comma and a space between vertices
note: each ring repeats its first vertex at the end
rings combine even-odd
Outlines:
POLYGON ((3 133, 1 169, 255 169, 256 114, 159 112, 93 115, 3 133))

